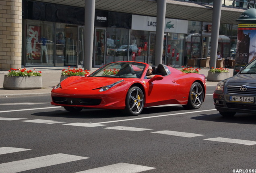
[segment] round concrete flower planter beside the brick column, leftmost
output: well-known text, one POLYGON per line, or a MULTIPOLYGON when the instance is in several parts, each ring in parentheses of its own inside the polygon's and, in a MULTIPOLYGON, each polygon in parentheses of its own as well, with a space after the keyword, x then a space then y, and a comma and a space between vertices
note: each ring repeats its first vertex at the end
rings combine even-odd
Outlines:
POLYGON ((27 90, 41 89, 42 76, 4 76, 4 89, 9 90, 27 90))

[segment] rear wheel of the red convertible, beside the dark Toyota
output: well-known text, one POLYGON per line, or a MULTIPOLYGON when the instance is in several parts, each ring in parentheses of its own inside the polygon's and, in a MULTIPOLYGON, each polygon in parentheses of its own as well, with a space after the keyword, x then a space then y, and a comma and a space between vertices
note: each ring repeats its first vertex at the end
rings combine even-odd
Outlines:
POLYGON ((182 105, 185 109, 199 109, 204 100, 204 90, 202 85, 194 82, 190 88, 188 95, 188 104, 182 105))

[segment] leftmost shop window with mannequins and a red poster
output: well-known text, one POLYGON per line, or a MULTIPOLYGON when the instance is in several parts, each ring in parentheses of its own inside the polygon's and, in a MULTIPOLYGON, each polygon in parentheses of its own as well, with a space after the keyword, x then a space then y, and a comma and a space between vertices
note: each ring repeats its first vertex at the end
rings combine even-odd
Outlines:
POLYGON ((26 25, 26 57, 29 65, 54 64, 54 23, 27 20, 26 25))

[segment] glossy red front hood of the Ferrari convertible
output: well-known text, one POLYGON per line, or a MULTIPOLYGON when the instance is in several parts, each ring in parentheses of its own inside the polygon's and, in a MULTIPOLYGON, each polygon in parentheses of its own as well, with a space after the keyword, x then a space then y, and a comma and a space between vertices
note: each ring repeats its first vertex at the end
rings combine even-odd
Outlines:
POLYGON ((66 90, 89 91, 112 84, 118 80, 121 80, 121 78, 72 76, 61 82, 61 88, 66 90))

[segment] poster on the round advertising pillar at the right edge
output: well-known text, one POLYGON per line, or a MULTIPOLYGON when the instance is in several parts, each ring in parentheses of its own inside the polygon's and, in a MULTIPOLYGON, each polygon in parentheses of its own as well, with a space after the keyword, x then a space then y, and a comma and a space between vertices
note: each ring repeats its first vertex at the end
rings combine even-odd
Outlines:
POLYGON ((236 65, 246 65, 256 52, 256 24, 239 24, 237 32, 236 65))

